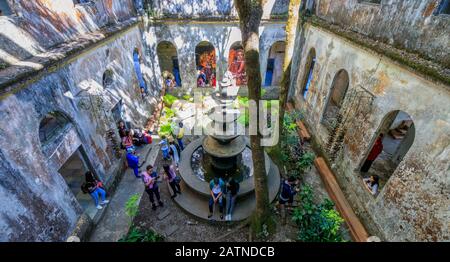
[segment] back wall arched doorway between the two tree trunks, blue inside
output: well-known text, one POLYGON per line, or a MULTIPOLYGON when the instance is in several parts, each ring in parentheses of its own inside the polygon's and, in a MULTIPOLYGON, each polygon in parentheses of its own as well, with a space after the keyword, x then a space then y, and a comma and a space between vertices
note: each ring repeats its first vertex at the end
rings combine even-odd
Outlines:
POLYGON ((264 86, 279 86, 283 74, 284 53, 286 42, 278 41, 270 47, 267 59, 266 77, 264 86))

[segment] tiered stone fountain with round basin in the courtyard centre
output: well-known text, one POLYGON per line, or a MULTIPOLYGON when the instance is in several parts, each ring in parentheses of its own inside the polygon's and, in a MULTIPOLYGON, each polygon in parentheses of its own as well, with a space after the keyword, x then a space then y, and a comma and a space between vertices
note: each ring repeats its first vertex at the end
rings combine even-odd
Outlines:
MULTIPOLYGON (((228 91, 225 86, 212 93, 216 105, 209 110, 211 121, 203 128, 206 135, 193 140, 181 153, 179 172, 183 194, 174 201, 186 212, 202 219, 207 219, 209 181, 214 177, 226 180, 232 176, 240 183, 232 221, 248 218, 255 208, 250 141, 242 135, 245 127, 237 121, 239 110, 232 108, 236 94, 228 91)), ((280 188, 280 175, 267 154, 265 166, 269 198, 273 201, 280 188)), ((219 215, 215 214, 213 219, 220 220, 219 215)))

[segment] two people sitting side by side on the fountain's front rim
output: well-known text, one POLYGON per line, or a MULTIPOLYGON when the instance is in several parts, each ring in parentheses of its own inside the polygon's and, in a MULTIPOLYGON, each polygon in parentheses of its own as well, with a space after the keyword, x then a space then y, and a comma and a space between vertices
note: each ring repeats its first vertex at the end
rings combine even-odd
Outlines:
POLYGON ((215 205, 219 204, 220 219, 223 219, 225 214, 225 220, 231 221, 231 215, 239 193, 239 183, 233 177, 227 178, 226 184, 222 178, 215 177, 209 182, 209 189, 211 196, 208 203, 208 218, 214 215, 215 205), (223 210, 224 202, 226 202, 225 212, 223 210))

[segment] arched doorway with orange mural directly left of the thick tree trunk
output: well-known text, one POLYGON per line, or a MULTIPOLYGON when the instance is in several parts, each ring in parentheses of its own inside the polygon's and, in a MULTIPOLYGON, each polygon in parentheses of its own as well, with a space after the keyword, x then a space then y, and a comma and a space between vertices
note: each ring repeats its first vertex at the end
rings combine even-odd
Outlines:
POLYGON ((230 71, 233 75, 233 78, 236 81, 236 86, 247 84, 244 59, 244 47, 241 42, 232 44, 228 56, 228 71, 230 71))

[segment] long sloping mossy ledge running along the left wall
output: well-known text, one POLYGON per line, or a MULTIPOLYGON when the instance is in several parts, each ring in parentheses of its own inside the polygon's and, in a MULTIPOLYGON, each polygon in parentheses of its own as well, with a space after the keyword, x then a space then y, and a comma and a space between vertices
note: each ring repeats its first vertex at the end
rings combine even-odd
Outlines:
POLYGON ((118 37, 120 35, 118 33, 126 32, 137 23, 136 18, 131 18, 120 24, 102 28, 97 32, 79 36, 73 41, 55 46, 48 52, 0 70, 0 100, 43 75, 54 72, 72 62, 73 59, 88 52, 91 48, 97 47, 97 44, 103 43, 112 36, 118 37))

